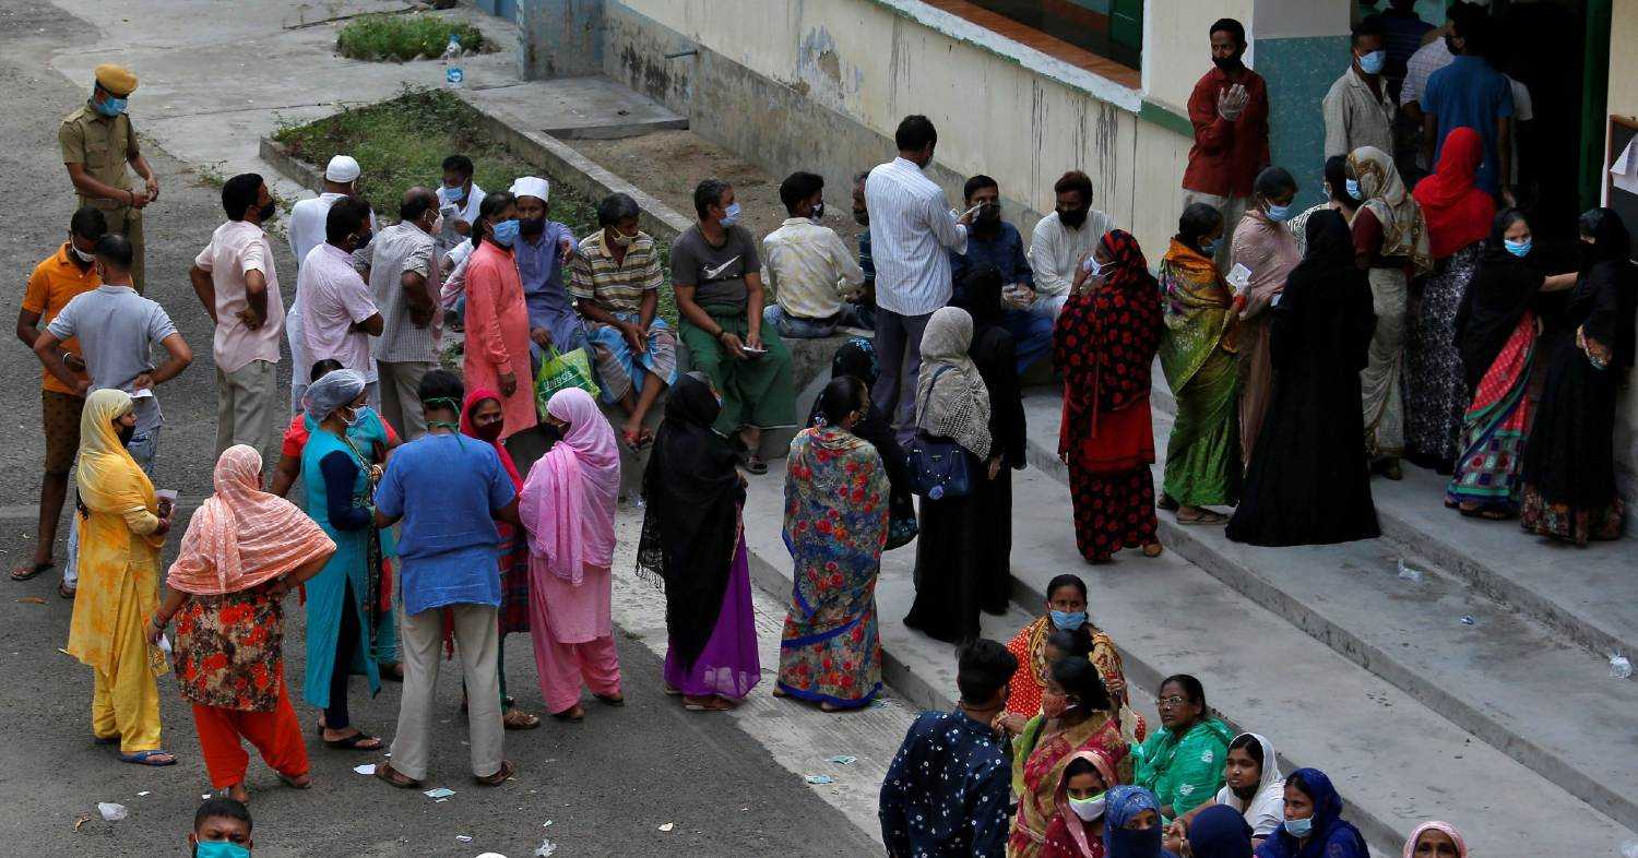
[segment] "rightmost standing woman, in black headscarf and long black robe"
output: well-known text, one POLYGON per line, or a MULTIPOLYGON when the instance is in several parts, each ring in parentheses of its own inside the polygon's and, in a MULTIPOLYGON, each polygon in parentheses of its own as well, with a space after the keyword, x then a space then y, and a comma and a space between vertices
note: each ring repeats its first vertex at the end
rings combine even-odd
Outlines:
POLYGON ((1615 396, 1633 365, 1638 275, 1620 214, 1581 216, 1581 277, 1564 318, 1574 337, 1559 344, 1525 447, 1525 531, 1586 545, 1622 535, 1615 490, 1615 396))

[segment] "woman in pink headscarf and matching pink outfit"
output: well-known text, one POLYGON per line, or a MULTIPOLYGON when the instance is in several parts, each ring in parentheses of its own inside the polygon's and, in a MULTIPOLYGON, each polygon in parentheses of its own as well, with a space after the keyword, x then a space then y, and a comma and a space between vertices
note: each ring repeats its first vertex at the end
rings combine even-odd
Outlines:
POLYGON ((549 712, 580 720, 580 686, 626 706, 609 607, 619 447, 598 403, 565 388, 545 403, 562 439, 529 468, 518 514, 529 532, 529 625, 549 712))

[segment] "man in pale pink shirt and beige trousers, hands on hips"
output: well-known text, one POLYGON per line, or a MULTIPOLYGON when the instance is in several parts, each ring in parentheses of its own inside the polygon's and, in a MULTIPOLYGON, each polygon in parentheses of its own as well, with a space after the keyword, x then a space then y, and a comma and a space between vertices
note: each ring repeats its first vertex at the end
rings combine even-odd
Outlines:
POLYGON ((274 249, 262 224, 278 208, 257 174, 239 174, 221 187, 228 223, 193 259, 188 277, 205 313, 216 323, 216 455, 247 444, 269 458, 274 437, 274 365, 285 324, 274 249))

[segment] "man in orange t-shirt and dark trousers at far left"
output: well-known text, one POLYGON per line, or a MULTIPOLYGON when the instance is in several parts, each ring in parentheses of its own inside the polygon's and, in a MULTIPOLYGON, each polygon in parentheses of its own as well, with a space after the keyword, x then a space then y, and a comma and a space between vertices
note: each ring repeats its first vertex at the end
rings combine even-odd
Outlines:
MULTIPOLYGON (((108 221, 103 213, 84 206, 69 221, 69 241, 39 265, 34 265, 34 273, 28 278, 28 291, 23 295, 23 309, 16 314, 16 337, 28 345, 29 352, 34 350, 39 332, 75 295, 102 285, 92 249, 97 247, 97 239, 103 237, 105 233, 108 233, 108 221)), ((48 372, 39 385, 41 427, 46 432, 46 475, 39 483, 39 539, 34 540, 34 557, 11 568, 13 581, 26 581, 51 568, 57 517, 62 516, 62 503, 69 491, 69 468, 74 465, 74 454, 80 449, 80 406, 85 404, 85 388, 90 385, 90 378, 85 375, 85 362, 80 360, 77 341, 62 342, 62 360, 80 378, 80 383, 70 390, 48 372)), ((72 596, 72 591, 62 593, 64 598, 72 596)))

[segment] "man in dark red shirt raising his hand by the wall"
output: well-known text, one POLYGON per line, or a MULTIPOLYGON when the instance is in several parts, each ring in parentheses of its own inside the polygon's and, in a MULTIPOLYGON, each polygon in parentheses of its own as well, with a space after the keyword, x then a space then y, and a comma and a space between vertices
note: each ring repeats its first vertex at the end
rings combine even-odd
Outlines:
POLYGON ((1233 228, 1245 216, 1251 182, 1268 167, 1268 85, 1245 67, 1245 26, 1233 18, 1212 25, 1212 65, 1189 93, 1194 147, 1183 172, 1183 205, 1206 203, 1224 216, 1217 265, 1227 267, 1233 228))

